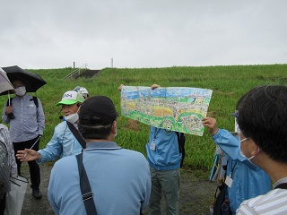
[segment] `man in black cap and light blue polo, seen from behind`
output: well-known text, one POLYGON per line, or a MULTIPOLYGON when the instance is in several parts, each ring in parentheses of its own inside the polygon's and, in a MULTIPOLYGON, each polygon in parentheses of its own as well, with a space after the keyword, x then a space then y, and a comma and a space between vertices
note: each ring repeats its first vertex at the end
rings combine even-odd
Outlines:
MULTIPOLYGON (((150 170, 142 153, 122 149, 114 142, 117 116, 108 97, 95 96, 83 102, 78 124, 87 142, 83 167, 98 215, 138 215, 149 202, 150 170)), ((48 201, 56 214, 87 214, 75 156, 55 163, 48 185, 48 201)))

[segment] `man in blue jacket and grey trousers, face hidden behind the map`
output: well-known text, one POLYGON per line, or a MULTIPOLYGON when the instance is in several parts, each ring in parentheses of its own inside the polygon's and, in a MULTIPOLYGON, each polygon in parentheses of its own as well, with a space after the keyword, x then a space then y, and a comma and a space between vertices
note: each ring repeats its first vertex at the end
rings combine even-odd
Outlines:
MULTIPOLYGON (((122 90, 120 85, 118 90, 122 90)), ((152 90, 160 88, 152 85, 152 90)), ((152 176, 152 193, 149 202, 149 214, 161 214, 161 194, 166 202, 166 214, 178 214, 180 161, 182 154, 178 149, 176 132, 151 126, 149 142, 145 149, 152 176)))

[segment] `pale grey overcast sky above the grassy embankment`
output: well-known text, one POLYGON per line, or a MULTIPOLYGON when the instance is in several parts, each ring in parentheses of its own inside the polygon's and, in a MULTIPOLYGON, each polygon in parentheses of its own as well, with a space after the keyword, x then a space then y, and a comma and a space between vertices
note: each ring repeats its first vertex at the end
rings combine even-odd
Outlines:
POLYGON ((287 64, 286 0, 8 0, 0 66, 287 64))

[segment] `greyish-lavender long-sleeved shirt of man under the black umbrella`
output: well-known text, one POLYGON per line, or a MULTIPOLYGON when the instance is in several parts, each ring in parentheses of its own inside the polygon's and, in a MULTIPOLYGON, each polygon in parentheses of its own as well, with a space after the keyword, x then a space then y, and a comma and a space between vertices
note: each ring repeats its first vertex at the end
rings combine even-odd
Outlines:
POLYGON ((45 128, 45 116, 43 107, 38 99, 37 108, 33 97, 25 94, 22 98, 12 99, 14 119, 5 115, 5 107, 2 113, 2 120, 10 124, 10 134, 12 142, 26 142, 36 138, 39 134, 43 135, 45 128))

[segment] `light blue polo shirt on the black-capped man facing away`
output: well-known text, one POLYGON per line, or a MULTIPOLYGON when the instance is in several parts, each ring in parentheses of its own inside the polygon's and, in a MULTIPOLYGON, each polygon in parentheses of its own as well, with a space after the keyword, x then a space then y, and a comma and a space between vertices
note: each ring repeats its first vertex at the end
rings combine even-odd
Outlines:
MULTIPOLYGON (((151 175, 143 154, 116 142, 89 142, 83 150, 98 215, 139 215, 148 205, 151 175)), ((86 214, 75 156, 59 159, 48 185, 48 201, 56 214, 86 214)))

